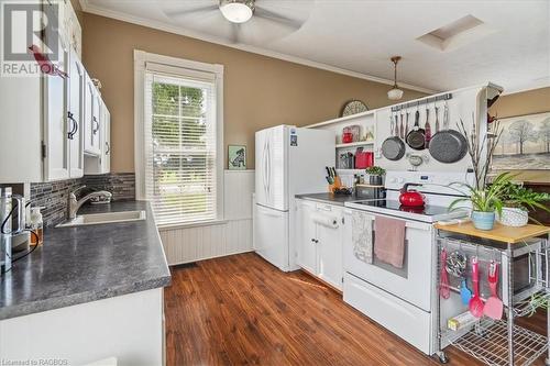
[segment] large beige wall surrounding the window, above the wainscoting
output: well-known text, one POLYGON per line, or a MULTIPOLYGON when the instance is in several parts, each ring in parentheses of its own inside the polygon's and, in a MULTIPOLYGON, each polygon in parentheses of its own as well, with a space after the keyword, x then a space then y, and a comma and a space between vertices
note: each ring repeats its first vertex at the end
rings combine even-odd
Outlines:
MULTIPOLYGON (((224 65, 224 145, 245 144, 254 168, 254 132, 336 118, 356 98, 387 106, 387 85, 261 56, 172 33, 84 13, 84 64, 103 86, 112 118, 112 171, 134 171, 133 51, 224 65)), ((388 64, 389 67, 389 64, 388 64)), ((406 91, 407 99, 421 96, 406 91)))

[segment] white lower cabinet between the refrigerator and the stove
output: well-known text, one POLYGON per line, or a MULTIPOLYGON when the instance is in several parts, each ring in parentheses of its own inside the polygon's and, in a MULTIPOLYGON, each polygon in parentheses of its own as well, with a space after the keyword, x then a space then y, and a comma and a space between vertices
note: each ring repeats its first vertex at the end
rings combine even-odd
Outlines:
POLYGON ((298 265, 332 287, 342 289, 343 209, 297 200, 297 211, 298 265))

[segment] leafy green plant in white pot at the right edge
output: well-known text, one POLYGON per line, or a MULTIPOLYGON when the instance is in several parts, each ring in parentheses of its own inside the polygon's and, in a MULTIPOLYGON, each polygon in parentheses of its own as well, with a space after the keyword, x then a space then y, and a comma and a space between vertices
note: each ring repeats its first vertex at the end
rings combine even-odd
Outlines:
POLYGON ((550 201, 549 193, 534 192, 532 189, 510 181, 503 192, 504 207, 497 220, 507 226, 525 226, 529 221, 530 210, 540 209, 550 212, 548 206, 543 204, 548 201, 550 201))

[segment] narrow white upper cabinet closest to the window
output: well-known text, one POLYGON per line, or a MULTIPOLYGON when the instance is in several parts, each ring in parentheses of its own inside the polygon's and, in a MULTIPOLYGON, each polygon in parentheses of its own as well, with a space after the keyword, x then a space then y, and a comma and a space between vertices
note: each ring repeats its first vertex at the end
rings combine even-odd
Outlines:
POLYGON ((85 157, 85 174, 90 175, 107 174, 111 170, 111 113, 102 99, 99 99, 98 103, 101 153, 85 157))

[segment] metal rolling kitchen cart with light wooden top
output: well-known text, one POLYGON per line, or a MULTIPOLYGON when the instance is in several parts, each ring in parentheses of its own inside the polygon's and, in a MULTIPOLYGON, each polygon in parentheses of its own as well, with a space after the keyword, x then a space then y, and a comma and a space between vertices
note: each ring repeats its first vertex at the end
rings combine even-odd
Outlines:
MULTIPOLYGON (((516 324, 517 318, 532 314, 537 308, 548 308, 550 304, 550 228, 510 228, 495 223, 493 230, 481 231, 471 222, 435 226, 439 254, 435 269, 438 279, 437 355, 440 362, 448 362, 443 350, 454 345, 487 365, 530 365, 546 352, 546 365, 550 365, 548 336, 516 324), (472 322, 470 319, 461 325, 454 321, 452 324, 459 325, 451 330, 448 320, 455 320, 459 314, 469 311, 468 301, 463 301, 460 293, 465 288, 468 299, 465 284, 471 279, 473 256, 480 264, 480 293, 484 300, 491 293, 486 280, 488 265, 498 264, 497 289, 504 303, 503 319, 493 320, 483 315, 477 321, 472 322), (446 260, 446 257, 451 259, 446 260)), ((547 334, 549 329, 550 317, 547 312, 547 334)))

